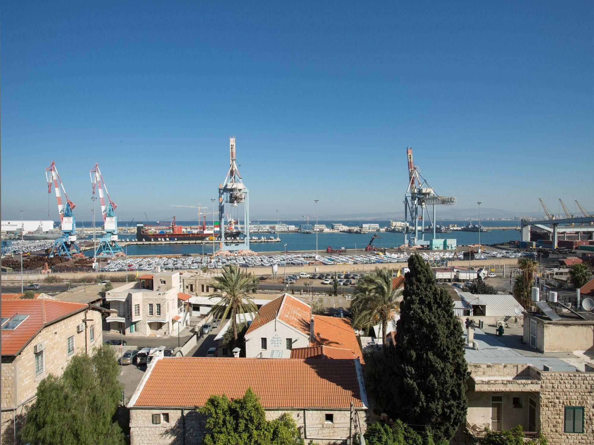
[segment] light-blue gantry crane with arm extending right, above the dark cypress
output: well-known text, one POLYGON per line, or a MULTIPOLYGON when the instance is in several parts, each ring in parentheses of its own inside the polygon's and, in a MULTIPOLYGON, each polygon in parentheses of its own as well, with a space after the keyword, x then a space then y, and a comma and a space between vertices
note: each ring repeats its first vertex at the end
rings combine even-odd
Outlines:
MULTIPOLYGON (((441 196, 437 195, 435 191, 429 186, 429 183, 421 175, 418 167, 415 166, 412 160, 412 147, 406 148, 406 157, 408 160, 408 171, 409 171, 409 183, 405 193, 405 223, 408 221, 407 217, 415 225, 414 236, 410 240, 410 245, 426 244, 424 240, 424 234, 421 230, 421 240, 419 241, 419 227, 418 221, 421 219, 422 228, 425 227, 425 210, 429 221, 433 227, 433 238, 435 239, 435 206, 437 205, 454 205, 456 204, 456 198, 453 196, 441 196), (429 214, 429 205, 433 206, 433 218, 429 214), (419 208, 421 209, 421 216, 419 217, 419 208)), ((406 243, 406 228, 405 228, 405 243, 406 243)))

